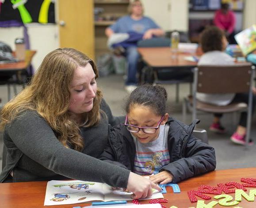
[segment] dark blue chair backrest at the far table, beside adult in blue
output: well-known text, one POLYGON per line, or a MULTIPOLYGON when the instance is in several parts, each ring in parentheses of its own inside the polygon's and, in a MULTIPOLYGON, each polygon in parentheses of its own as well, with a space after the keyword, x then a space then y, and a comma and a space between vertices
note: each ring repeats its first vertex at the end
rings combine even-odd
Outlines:
POLYGON ((146 48, 146 47, 166 47, 170 46, 171 41, 169 38, 165 37, 154 37, 151 39, 145 39, 138 41, 137 46, 141 48, 146 48))

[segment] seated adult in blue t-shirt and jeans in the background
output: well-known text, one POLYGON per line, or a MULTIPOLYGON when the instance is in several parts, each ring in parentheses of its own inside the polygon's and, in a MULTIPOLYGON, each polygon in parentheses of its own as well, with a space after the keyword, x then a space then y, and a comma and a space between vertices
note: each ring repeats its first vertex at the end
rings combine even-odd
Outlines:
MULTIPOLYGON (((164 35, 164 30, 151 18, 143 15, 144 9, 141 0, 130 1, 128 12, 129 15, 118 19, 115 24, 107 27, 105 30, 107 37, 111 37, 115 33, 136 33, 136 35, 131 37, 130 41, 134 42, 135 40, 139 41, 135 37, 140 37, 140 35, 142 39, 150 39, 154 36, 160 37, 164 35)), ((127 46, 125 56, 128 63, 128 74, 125 85, 126 90, 131 93, 138 83, 136 74, 140 56, 137 51, 137 45, 130 44, 130 46, 127 46)))

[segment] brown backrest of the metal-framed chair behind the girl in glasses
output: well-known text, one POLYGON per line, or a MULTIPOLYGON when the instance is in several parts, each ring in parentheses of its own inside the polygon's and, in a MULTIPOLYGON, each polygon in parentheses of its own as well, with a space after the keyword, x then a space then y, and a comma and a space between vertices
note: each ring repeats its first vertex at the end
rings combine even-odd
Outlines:
POLYGON ((198 66, 195 73, 199 93, 245 93, 250 89, 252 67, 251 63, 198 66))

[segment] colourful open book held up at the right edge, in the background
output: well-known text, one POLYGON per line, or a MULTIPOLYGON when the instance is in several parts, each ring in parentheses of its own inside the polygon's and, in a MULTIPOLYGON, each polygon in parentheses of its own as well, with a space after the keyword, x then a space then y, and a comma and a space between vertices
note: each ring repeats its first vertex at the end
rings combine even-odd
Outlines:
POLYGON ((241 48, 244 56, 256 50, 256 25, 237 33, 235 35, 237 44, 241 48))

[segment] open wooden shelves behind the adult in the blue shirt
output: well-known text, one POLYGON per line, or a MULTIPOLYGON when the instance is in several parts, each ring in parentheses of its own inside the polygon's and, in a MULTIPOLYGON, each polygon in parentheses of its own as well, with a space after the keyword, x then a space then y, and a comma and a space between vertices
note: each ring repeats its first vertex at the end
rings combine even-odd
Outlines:
POLYGON ((94 0, 96 57, 109 52, 105 29, 128 14, 129 0, 94 0))

